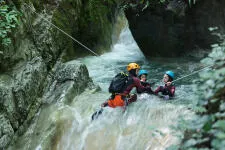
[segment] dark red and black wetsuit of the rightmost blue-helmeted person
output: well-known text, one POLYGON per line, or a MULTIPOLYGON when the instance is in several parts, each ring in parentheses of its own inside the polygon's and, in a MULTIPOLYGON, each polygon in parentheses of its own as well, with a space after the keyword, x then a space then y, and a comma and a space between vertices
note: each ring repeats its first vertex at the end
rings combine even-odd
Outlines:
POLYGON ((154 93, 157 95, 159 92, 162 92, 163 95, 169 95, 169 97, 173 97, 175 94, 175 86, 170 85, 170 86, 159 86, 154 93))

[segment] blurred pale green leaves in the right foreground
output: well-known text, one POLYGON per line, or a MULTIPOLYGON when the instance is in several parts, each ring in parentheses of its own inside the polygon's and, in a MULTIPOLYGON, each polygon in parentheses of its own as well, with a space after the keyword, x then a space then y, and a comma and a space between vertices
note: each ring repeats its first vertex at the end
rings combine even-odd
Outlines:
POLYGON ((187 123, 180 149, 215 149, 225 147, 225 42, 213 45, 213 51, 201 62, 213 65, 200 73, 197 107, 204 109, 187 123), (188 133, 188 134, 187 134, 188 133))

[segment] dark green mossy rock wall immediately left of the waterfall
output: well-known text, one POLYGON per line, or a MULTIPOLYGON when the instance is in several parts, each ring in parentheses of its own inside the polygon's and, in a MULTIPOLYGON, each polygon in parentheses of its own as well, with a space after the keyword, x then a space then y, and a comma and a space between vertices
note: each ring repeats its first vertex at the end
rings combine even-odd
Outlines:
MULTIPOLYGON (((112 27, 117 3, 111 1, 89 0, 81 3, 77 1, 62 1, 53 15, 53 23, 66 31, 69 35, 94 50, 102 53, 111 45, 112 27)), ((59 33, 59 42, 66 43, 65 60, 90 55, 90 52, 69 37, 59 33)))

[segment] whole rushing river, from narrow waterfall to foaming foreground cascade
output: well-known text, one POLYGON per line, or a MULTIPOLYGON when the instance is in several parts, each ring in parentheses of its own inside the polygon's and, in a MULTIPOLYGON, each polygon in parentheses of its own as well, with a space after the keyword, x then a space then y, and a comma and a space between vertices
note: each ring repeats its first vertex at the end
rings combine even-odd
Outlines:
POLYGON ((128 63, 137 62, 148 70, 148 81, 154 82, 152 88, 156 89, 162 85, 166 70, 173 70, 179 78, 197 70, 200 67, 198 61, 188 58, 145 58, 128 28, 121 32, 111 52, 100 57, 85 57, 80 61, 86 64, 94 83, 101 90, 87 90, 69 105, 42 108, 20 141, 9 149, 163 150, 179 143, 176 135, 181 133, 171 127, 176 126, 179 117, 192 117, 188 107, 193 95, 192 80, 196 76, 177 81, 176 98, 171 101, 141 94, 125 113, 121 108, 105 108, 95 121, 91 121, 91 115, 110 96, 108 86, 112 77, 126 71, 128 63), (48 138, 51 126, 56 132, 54 141, 48 138), (44 144, 47 146, 43 147, 44 144))

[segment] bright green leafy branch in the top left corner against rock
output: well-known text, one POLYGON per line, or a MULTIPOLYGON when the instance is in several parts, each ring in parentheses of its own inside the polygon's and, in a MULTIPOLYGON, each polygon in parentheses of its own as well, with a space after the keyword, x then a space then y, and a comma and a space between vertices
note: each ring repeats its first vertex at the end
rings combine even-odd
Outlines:
POLYGON ((5 1, 0 3, 0 44, 8 46, 11 43, 10 33, 18 22, 19 12, 5 1))

